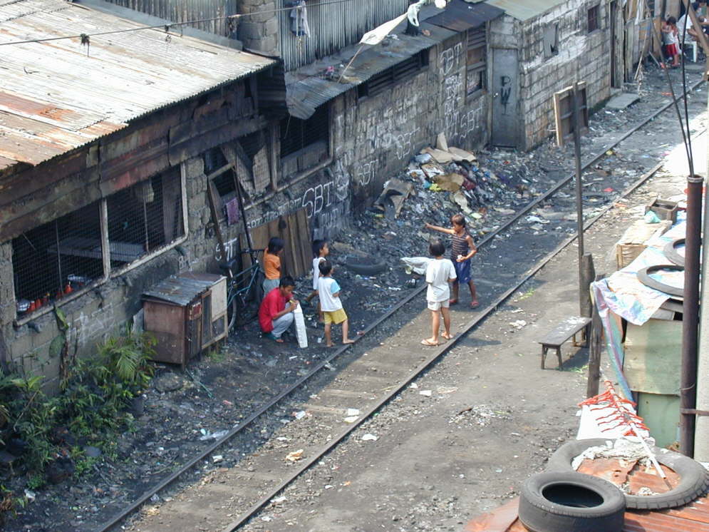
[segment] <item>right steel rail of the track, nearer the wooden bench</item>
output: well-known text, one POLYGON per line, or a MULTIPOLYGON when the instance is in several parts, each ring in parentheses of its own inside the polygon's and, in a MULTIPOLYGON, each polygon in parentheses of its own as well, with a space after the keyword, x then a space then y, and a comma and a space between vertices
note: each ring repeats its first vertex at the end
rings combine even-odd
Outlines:
MULTIPOLYGON (((651 170, 641 175, 641 177, 638 178, 635 183, 633 183, 630 187, 626 188, 626 190, 623 190, 623 193, 619 195, 619 198, 623 198, 626 195, 631 194, 639 186, 643 185, 643 183, 645 183, 649 178, 651 178, 657 172, 657 170, 661 168, 662 165, 663 163, 658 163, 657 165, 653 166, 651 170)), ((613 203, 611 203, 610 205, 606 205, 604 208, 601 209, 598 215, 586 221, 584 223, 584 232, 588 230, 591 225, 594 225, 595 222, 600 220, 604 214, 606 214, 609 210, 611 210, 611 208, 613 208, 613 206, 613 203)), ((289 486, 293 481, 295 481, 299 476, 301 476, 301 474, 303 474, 306 470, 310 469, 313 464, 318 463, 323 458, 323 456, 328 454, 328 452, 330 452, 341 441, 343 441, 343 439, 349 436, 351 432, 357 429, 358 426, 363 424, 379 409, 388 404, 388 402, 391 401, 391 399, 393 399, 394 397, 396 397, 396 395, 399 394, 403 389, 405 389, 405 387, 407 387, 410 382, 412 382, 414 379, 416 379, 416 377, 425 372, 425 370, 435 364, 435 362, 438 362, 438 360, 442 358, 447 352, 449 352, 453 347, 455 347, 456 344, 460 342, 460 340, 464 338, 468 332, 475 328, 477 324, 487 319, 487 317, 490 316, 492 312, 495 312, 495 310, 497 310, 497 307, 502 305, 502 303, 504 303, 512 294, 514 294, 514 292, 517 292, 517 290, 519 290, 519 287, 522 287, 525 282, 534 277, 534 275, 536 275, 539 270, 542 270, 542 268, 546 266, 550 260, 559 255, 559 253, 566 249, 566 247, 568 247, 571 242, 574 242, 577 237, 578 235, 571 235, 570 237, 567 237, 566 240, 561 241, 561 243, 556 248, 554 248, 554 250, 547 253, 547 255, 544 255, 544 257, 542 257, 542 259, 539 260, 537 264, 535 264, 522 275, 520 280, 517 280, 514 286, 505 290, 502 295, 497 297, 495 302, 492 302, 492 304, 485 307, 485 309, 482 310, 480 314, 473 317, 469 322, 467 322, 464 325, 463 329, 458 334, 456 334, 455 337, 446 342, 442 347, 435 349, 433 354, 428 357, 428 359, 426 359, 424 362, 422 362, 418 366, 418 368, 414 369, 413 372, 408 375, 408 377, 405 377, 402 381, 400 381, 399 384, 396 385, 394 389, 392 389, 390 392, 387 392, 381 399, 378 399, 376 403, 373 404, 373 406, 368 408, 366 411, 363 411, 360 419, 355 421, 353 424, 347 426, 345 429, 343 429, 343 431, 334 436, 333 439, 329 440, 328 443, 325 446, 321 447, 319 451, 315 451, 315 454, 309 457, 309 459, 307 459, 306 461, 304 461, 301 467, 294 471, 291 476, 282 481, 279 486, 277 486, 264 497, 262 497, 259 502, 255 503, 254 506, 252 506, 251 508, 249 508, 249 510, 239 516, 236 521, 229 523, 227 528, 224 528, 222 532, 233 532, 237 530, 237 528, 242 526, 244 523, 249 521, 252 517, 254 517, 255 514, 257 514, 262 508, 264 508, 264 506, 266 506, 274 497, 278 496, 281 491, 283 491, 287 486, 289 486)))

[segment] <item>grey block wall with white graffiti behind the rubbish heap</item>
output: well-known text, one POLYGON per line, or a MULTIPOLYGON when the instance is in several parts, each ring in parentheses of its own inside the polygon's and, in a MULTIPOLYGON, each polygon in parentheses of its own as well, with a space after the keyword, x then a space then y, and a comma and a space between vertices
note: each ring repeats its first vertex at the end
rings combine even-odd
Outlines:
POLYGON ((465 33, 434 46, 428 67, 376 96, 348 91, 333 103, 331 172, 350 181, 353 207, 365 208, 418 151, 445 133, 475 150, 489 138, 489 95, 467 98, 465 33))

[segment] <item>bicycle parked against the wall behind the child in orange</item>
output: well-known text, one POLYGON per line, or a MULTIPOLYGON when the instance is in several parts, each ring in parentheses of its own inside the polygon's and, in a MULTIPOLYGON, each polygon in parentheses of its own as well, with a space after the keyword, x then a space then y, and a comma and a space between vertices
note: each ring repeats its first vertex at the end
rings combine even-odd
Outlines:
POLYGON ((251 266, 240 272, 233 272, 237 258, 222 262, 219 268, 227 275, 227 331, 242 327, 259 314, 259 305, 264 296, 264 271, 257 257, 259 250, 245 249, 242 254, 249 254, 251 266))

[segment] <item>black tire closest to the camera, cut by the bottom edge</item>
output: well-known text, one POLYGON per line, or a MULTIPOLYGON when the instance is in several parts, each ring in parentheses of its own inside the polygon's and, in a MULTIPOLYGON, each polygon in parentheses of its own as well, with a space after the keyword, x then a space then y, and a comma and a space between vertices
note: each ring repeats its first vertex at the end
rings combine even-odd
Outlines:
POLYGON ((621 532, 625 511, 616 486, 576 471, 532 475, 519 493, 519 521, 530 532, 621 532))

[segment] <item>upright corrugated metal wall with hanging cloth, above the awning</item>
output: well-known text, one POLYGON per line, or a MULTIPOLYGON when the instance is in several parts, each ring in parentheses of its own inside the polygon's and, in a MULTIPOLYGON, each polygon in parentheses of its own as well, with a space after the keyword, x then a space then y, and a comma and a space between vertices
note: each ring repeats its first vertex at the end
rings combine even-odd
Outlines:
MULTIPOLYGON (((279 12, 279 46, 286 71, 357 43, 367 31, 403 14, 408 8, 408 0, 353 0, 327 4, 328 0, 308 2, 310 37, 296 36, 291 31, 291 10, 279 12)), ((288 8, 291 1, 278 0, 277 5, 288 8)))

